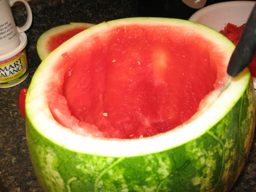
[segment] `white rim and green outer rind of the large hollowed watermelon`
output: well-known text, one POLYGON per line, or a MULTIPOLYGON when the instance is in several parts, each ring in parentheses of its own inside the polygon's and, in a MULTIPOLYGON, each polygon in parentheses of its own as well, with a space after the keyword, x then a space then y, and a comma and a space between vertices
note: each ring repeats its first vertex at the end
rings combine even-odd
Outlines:
MULTIPOLYGON (((198 25, 171 20, 173 24, 198 25)), ((110 24, 100 24, 95 30, 110 24)), ((68 41, 69 47, 90 36, 90 31, 68 41)), ((217 33, 214 37, 221 38, 217 33)), ((49 67, 65 50, 64 44, 39 66, 26 98, 28 146, 45 191, 218 192, 232 187, 248 157, 255 128, 255 95, 248 69, 189 124, 153 137, 107 141, 83 137, 60 126, 39 92, 52 75, 49 67)))

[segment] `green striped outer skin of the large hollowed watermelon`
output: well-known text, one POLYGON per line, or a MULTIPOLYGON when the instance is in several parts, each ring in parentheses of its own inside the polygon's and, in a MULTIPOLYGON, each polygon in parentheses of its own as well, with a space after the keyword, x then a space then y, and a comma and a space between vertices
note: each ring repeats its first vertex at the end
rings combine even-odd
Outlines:
POLYGON ((37 178, 45 192, 227 191, 243 168, 254 135, 255 96, 248 83, 234 107, 205 134, 144 156, 112 158, 70 151, 26 121, 37 178))

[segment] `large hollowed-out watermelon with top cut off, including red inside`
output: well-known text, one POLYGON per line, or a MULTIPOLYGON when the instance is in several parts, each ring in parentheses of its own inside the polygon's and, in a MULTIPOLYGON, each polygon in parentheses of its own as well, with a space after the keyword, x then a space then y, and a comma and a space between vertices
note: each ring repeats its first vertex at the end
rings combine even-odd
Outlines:
POLYGON ((256 110, 248 68, 222 92, 234 47, 211 28, 170 18, 104 22, 64 42, 39 65, 26 96, 42 189, 230 190, 248 158, 256 110), (166 129, 169 120, 176 127, 166 129), (139 133, 156 134, 124 137, 141 122, 139 133))

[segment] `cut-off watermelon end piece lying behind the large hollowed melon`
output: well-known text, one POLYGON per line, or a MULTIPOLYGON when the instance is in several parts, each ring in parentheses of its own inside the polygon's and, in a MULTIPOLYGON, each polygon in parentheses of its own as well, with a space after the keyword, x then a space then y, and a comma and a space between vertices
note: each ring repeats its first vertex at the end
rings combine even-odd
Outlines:
POLYGON ((36 50, 39 58, 43 60, 49 53, 59 47, 66 40, 92 26, 94 26, 94 24, 70 23, 54 27, 44 32, 38 38, 36 43, 36 50))

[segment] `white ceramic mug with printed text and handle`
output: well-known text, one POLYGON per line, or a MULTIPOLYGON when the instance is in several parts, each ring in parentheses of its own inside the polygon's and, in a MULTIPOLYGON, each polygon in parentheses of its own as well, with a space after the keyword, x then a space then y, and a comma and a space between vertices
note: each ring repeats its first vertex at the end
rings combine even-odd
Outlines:
POLYGON ((0 55, 15 49, 20 43, 20 32, 25 32, 32 24, 32 11, 26 0, 0 0, 0 55), (24 26, 16 27, 11 6, 23 2, 27 9, 27 21, 24 26))

